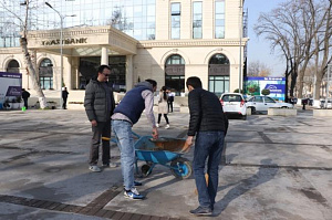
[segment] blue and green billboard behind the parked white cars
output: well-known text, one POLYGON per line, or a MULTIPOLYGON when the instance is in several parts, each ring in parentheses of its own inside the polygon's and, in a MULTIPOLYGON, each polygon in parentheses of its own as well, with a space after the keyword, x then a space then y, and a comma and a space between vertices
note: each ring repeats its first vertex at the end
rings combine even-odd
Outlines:
POLYGON ((262 95, 262 90, 270 90, 270 97, 284 101, 284 77, 245 77, 243 92, 246 95, 262 95))

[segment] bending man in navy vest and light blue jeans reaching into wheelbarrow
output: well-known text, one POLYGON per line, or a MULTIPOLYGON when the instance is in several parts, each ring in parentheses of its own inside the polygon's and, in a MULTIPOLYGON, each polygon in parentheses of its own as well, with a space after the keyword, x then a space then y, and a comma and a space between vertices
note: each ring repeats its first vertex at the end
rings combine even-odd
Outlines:
POLYGON ((129 199, 144 199, 135 186, 142 185, 134 180, 135 147, 132 127, 135 125, 143 111, 152 126, 154 138, 158 138, 154 107, 154 92, 157 83, 153 80, 146 80, 138 83, 126 93, 112 115, 112 128, 117 139, 121 151, 121 168, 124 179, 124 196, 129 199))

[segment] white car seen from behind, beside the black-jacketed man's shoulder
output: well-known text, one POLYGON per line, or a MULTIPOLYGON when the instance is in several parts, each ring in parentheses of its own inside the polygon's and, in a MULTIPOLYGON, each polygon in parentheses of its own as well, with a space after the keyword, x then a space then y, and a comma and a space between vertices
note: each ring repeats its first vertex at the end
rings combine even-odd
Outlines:
POLYGON ((220 97, 222 109, 227 115, 238 115, 247 119, 246 101, 240 93, 224 93, 220 97))

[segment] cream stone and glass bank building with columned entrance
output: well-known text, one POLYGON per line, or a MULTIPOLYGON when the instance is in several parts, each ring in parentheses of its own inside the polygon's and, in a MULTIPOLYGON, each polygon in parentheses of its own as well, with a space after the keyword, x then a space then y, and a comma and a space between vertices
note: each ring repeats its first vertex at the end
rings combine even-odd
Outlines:
MULTIPOLYGON (((25 2, 3 2, 0 72, 21 73, 22 87, 33 97, 19 44, 22 28, 11 13, 24 18, 25 2)), ((242 86, 248 42, 243 0, 46 2, 30 3, 28 35, 46 99, 60 97, 62 75, 69 107, 82 104, 85 86, 101 64, 111 66, 116 93, 146 78, 157 81, 158 88, 170 87, 176 96, 186 95, 190 76, 200 77, 204 88, 218 96, 242 86)))

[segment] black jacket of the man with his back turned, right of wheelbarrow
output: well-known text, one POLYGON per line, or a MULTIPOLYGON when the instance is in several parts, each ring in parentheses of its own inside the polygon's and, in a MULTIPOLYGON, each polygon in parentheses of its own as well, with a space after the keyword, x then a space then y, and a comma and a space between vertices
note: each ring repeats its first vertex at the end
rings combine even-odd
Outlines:
POLYGON ((197 132, 228 129, 228 119, 224 114, 219 98, 211 92, 195 88, 188 96, 190 122, 188 136, 195 136, 197 132))

